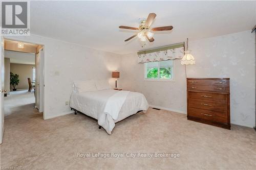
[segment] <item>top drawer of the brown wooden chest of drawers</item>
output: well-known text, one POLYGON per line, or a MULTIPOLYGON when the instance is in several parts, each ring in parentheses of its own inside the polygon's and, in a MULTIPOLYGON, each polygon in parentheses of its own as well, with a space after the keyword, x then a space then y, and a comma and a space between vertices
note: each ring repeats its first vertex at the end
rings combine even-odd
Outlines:
POLYGON ((202 80, 202 79, 188 79, 188 90, 202 90, 202 91, 217 91, 217 92, 229 92, 229 80, 217 79, 217 80, 202 80))

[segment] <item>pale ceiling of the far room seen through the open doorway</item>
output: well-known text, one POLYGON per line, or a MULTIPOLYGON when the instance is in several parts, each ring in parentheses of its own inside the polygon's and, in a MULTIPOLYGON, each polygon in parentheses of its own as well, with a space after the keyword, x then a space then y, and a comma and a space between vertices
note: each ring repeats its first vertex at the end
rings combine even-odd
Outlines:
POLYGON ((10 63, 35 65, 35 54, 5 50, 5 58, 10 58, 10 63))

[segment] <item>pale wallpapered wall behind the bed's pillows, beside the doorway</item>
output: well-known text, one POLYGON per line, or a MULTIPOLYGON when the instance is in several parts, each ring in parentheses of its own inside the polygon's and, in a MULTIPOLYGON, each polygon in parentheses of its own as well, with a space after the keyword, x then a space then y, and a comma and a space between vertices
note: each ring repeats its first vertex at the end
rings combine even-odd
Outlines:
POLYGON ((37 35, 5 38, 45 45, 46 119, 73 112, 65 103, 75 80, 109 79, 114 87, 111 71, 119 69, 119 55, 37 35))

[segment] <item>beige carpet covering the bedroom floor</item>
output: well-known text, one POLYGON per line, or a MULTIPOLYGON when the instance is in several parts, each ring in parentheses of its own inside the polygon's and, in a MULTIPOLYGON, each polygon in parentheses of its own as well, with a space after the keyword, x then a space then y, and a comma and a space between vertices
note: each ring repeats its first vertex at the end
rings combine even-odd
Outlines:
MULTIPOLYGON (((27 169, 255 169, 256 133, 192 122, 149 109, 116 124, 113 134, 81 114, 43 120, 33 104, 5 117, 1 166, 27 169), (172 157, 79 158, 77 153, 178 153, 172 157)), ((92 156, 92 155, 91 155, 92 156)))

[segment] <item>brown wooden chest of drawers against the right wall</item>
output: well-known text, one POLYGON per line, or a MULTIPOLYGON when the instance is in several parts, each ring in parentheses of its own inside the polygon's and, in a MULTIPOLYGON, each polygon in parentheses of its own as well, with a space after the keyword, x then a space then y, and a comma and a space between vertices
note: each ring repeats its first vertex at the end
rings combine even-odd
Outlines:
POLYGON ((187 78, 187 119, 230 129, 229 78, 187 78))

